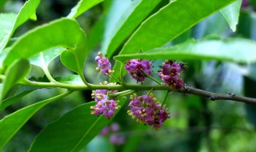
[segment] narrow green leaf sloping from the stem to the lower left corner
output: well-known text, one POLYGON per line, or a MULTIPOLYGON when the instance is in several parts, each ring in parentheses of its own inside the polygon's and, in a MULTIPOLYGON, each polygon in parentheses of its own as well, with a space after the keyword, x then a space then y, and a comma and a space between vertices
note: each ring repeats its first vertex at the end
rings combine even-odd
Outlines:
POLYGON ((64 94, 60 94, 54 98, 46 99, 42 102, 37 102, 33 105, 26 106, 21 110, 14 112, 13 114, 9 114, 5 118, 2 118, 0 121, 0 149, 2 146, 6 144, 18 132, 18 130, 34 115, 38 110, 40 110, 43 106, 46 106, 50 102, 54 102, 58 99, 65 97, 70 94, 70 92, 66 92, 64 94))

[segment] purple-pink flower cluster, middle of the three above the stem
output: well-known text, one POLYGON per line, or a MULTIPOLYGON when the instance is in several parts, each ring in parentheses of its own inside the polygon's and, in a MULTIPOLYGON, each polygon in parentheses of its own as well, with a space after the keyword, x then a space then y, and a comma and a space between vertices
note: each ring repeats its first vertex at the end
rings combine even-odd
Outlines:
POLYGON ((142 82, 146 78, 145 74, 151 74, 151 62, 148 60, 141 60, 141 59, 131 59, 130 61, 126 62, 125 69, 130 74, 131 78, 137 80, 137 82, 142 82))

